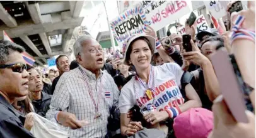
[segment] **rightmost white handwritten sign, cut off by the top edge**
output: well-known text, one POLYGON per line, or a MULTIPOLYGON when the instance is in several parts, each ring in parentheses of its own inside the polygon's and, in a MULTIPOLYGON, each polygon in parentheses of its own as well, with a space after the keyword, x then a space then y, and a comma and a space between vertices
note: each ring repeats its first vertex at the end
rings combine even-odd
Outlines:
POLYGON ((229 1, 204 1, 206 8, 216 19, 226 16, 226 6, 228 3, 229 1))

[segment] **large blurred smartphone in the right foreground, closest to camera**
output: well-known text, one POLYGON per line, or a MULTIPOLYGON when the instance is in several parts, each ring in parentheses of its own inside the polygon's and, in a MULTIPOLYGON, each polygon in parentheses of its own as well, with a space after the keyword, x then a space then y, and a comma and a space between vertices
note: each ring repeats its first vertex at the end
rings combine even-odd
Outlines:
POLYGON ((228 51, 219 49, 211 57, 212 66, 218 78, 219 87, 224 97, 231 114, 238 122, 248 122, 245 110, 247 110, 246 103, 248 97, 243 92, 243 84, 241 77, 237 72, 240 72, 238 66, 233 66, 234 58, 231 59, 228 51), (231 62, 231 60, 233 60, 231 62), (236 70, 236 71, 235 71, 236 70), (235 72, 234 72, 235 71, 235 72))

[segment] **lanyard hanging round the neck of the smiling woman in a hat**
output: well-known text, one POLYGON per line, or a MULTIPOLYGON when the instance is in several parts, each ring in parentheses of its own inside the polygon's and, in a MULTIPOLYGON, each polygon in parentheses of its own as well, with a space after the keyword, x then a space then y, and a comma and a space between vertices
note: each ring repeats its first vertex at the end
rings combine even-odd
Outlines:
MULTIPOLYGON (((156 82, 156 79, 154 77, 154 70, 153 70, 153 66, 151 66, 151 70, 149 72, 149 80, 148 80, 148 88, 146 88, 146 86, 144 85, 143 81, 141 80, 141 78, 139 78, 137 75, 136 75, 136 78, 139 80, 139 85, 143 85, 143 87, 146 89, 146 94, 148 95, 147 91, 148 90, 151 90, 151 92, 155 92, 154 90, 154 87, 155 87, 155 82, 156 82)), ((134 93, 136 94, 136 97, 137 99, 139 100, 139 102, 141 102, 141 104, 143 104, 143 102, 141 101, 141 99, 139 98, 139 94, 137 93, 137 88, 136 88, 136 79, 134 80, 134 93)), ((143 93, 144 95, 144 93, 143 93)), ((151 93, 150 93, 151 95, 151 93)), ((151 95, 151 97, 153 97, 151 95)), ((152 104, 154 104, 155 102, 155 98, 153 97, 153 102, 152 104)), ((144 105, 144 104, 143 104, 144 105)), ((146 105, 144 105, 146 107, 146 105)))

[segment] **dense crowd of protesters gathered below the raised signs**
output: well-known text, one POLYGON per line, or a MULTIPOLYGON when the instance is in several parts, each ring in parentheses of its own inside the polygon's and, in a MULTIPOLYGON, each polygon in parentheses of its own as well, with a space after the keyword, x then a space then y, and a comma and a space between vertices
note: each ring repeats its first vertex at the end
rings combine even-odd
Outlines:
POLYGON ((0 41, 0 137, 34 137, 30 112, 61 125, 68 137, 255 137, 255 1, 232 13, 230 23, 224 33, 195 34, 186 22, 192 51, 182 35, 157 38, 148 26, 107 61, 98 41, 81 36, 76 60, 60 55, 58 71, 47 76, 26 65, 22 46, 0 41), (222 95, 211 61, 218 50, 235 56, 250 88, 247 123, 235 119, 222 95))

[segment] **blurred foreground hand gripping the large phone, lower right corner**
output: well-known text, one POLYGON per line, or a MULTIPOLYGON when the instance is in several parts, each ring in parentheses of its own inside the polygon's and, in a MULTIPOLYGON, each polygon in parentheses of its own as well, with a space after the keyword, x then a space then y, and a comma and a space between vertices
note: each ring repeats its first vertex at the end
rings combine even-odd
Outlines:
POLYGON ((214 114, 214 129, 208 138, 251 138, 255 137, 255 115, 246 111, 249 122, 247 124, 236 122, 222 95, 214 100, 212 105, 212 112, 214 114))

